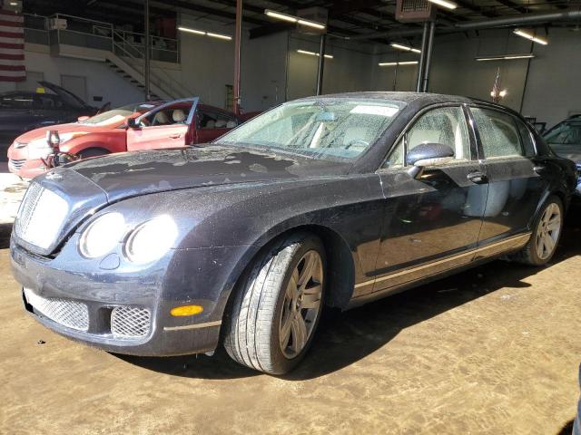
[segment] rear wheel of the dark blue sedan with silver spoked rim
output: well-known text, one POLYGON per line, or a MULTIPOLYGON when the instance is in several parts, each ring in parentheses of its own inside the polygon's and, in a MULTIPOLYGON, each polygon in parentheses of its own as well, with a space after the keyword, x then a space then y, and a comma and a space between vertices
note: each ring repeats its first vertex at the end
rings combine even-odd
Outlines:
POLYGON ((535 223, 533 234, 514 259, 530 266, 546 265, 556 251, 563 231, 563 202, 551 195, 541 207, 535 223))

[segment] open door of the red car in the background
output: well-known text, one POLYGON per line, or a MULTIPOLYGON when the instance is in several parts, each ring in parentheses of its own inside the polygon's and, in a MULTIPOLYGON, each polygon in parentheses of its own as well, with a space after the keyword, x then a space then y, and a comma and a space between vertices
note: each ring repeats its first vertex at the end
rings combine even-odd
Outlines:
POLYGON ((136 122, 139 128, 127 130, 127 150, 157 150, 185 147, 198 98, 178 100, 162 104, 148 111, 136 122))

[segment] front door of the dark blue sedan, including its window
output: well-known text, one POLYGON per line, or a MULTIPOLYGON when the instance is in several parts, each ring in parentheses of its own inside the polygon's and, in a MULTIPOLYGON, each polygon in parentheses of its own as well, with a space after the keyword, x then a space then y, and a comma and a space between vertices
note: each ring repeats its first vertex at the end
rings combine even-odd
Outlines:
POLYGON ((460 105, 423 113, 379 170, 385 210, 374 291, 472 261, 488 186, 467 115, 460 105), (454 160, 413 178, 405 156, 421 143, 448 145, 454 160))

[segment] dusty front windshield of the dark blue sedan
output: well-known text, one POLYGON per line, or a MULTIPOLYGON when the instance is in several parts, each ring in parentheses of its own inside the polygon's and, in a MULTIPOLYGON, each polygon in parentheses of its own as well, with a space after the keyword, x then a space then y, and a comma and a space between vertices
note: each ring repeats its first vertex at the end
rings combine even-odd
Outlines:
POLYGON ((353 160, 368 150, 404 102, 346 98, 287 102, 216 143, 283 150, 321 160, 353 160))

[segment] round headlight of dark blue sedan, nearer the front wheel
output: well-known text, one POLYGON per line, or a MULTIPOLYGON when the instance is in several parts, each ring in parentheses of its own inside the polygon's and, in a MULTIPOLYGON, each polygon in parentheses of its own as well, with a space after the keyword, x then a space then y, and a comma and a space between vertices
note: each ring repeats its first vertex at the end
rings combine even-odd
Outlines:
POLYGON ((150 263, 161 258, 178 237, 178 227, 169 216, 153 218, 136 227, 127 239, 125 255, 133 263, 150 263))

